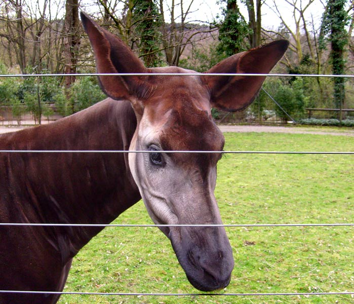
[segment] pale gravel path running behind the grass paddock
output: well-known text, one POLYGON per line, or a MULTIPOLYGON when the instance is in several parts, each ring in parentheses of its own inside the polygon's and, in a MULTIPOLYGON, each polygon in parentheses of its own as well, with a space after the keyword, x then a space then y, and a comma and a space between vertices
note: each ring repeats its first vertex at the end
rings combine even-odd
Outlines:
MULTIPOLYGON (((17 130, 24 129, 23 126, 0 126, 0 133, 13 132, 17 130)), ((342 132, 335 132, 333 129, 322 129, 321 131, 316 131, 313 128, 306 127, 277 127, 277 126, 219 126, 222 132, 272 132, 272 133, 297 133, 297 134, 320 134, 320 135, 334 135, 334 136, 354 136, 354 129, 342 132)))

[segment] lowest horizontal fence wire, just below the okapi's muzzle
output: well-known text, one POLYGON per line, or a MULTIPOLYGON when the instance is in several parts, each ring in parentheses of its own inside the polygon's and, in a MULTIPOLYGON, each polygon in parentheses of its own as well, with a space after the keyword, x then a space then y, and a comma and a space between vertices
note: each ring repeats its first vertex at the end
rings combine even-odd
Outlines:
POLYGON ((119 295, 119 296, 308 296, 308 295, 351 295, 354 291, 335 292, 260 292, 260 293, 153 293, 153 292, 74 292, 74 291, 27 291, 0 290, 0 293, 68 294, 68 295, 119 295))

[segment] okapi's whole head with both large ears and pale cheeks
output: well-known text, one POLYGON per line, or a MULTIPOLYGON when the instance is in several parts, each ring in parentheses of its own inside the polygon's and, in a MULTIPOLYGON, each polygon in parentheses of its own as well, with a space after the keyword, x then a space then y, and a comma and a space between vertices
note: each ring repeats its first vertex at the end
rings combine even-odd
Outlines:
MULTIPOLYGON (((99 81, 109 97, 129 100, 136 113, 130 150, 149 153, 130 153, 129 167, 153 222, 222 224, 214 197, 216 164, 221 154, 164 150, 222 151, 224 137, 213 122, 211 107, 244 109, 265 77, 208 76, 179 67, 146 68, 118 37, 84 13, 81 17, 98 73, 146 74, 99 76, 99 81)), ((268 73, 287 47, 285 40, 272 42, 233 55, 208 73, 268 73)), ((224 227, 164 226, 161 230, 195 288, 210 291, 229 284, 234 261, 224 227)))

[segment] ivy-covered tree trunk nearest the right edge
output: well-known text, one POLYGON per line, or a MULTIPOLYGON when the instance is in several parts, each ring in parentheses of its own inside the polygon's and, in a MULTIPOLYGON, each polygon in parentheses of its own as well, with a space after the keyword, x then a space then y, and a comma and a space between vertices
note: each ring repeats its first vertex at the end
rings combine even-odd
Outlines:
MULTIPOLYGON (((331 43, 330 59, 332 71, 335 75, 344 74, 344 51, 348 44, 348 33, 345 26, 349 22, 348 14, 344 9, 346 0, 328 0, 327 9, 322 18, 322 47, 325 42, 331 43)), ((334 104, 342 108, 345 98, 344 78, 334 78, 334 104)), ((341 113, 341 112, 340 112, 341 113)))

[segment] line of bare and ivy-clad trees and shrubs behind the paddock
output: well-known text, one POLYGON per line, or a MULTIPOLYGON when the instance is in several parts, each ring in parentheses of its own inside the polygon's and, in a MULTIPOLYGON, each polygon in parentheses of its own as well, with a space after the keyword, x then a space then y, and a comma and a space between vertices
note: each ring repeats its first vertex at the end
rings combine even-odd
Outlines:
MULTIPOLYGON (((24 111, 31 111, 40 121, 42 115, 50 115, 53 102, 57 111, 69 115, 102 98, 95 78, 72 75, 95 71, 79 10, 119 35, 150 67, 176 65, 204 71, 227 56, 285 38, 290 41, 290 48, 277 67, 278 72, 352 73, 354 0, 284 0, 283 6, 276 0, 220 0, 220 14, 208 21, 193 17, 193 2, 3 1, 1 73, 63 73, 64 76, 0 79, 2 111, 11 109, 17 118, 24 111), (309 13, 314 7, 321 10, 321 20, 309 13), (291 18, 285 17, 285 9, 292 12, 291 18), (262 18, 265 11, 272 12, 280 26, 265 25, 262 18)), ((305 107, 354 107, 353 83, 341 77, 268 78, 264 89, 296 118, 305 116, 305 107)), ((287 119, 263 91, 250 108, 251 116, 257 117, 265 117, 272 110, 287 119)))

